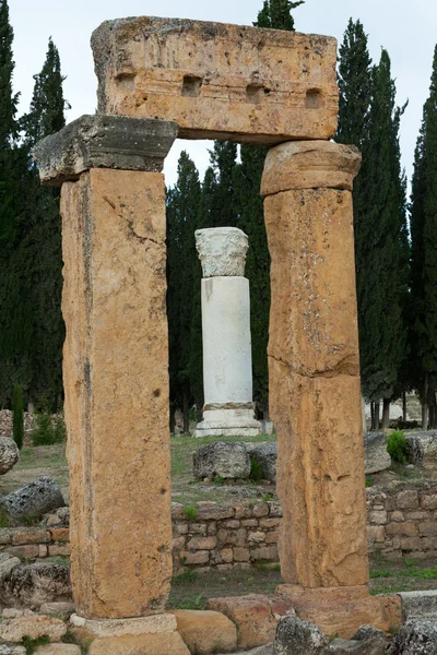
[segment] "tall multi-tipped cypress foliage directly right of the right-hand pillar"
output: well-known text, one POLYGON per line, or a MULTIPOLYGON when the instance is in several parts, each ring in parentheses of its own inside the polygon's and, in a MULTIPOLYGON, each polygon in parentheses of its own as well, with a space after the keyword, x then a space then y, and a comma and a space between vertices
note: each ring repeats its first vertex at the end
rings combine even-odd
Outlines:
POLYGON ((401 393, 408 344, 409 239, 405 177, 390 58, 371 68, 367 36, 352 20, 340 48, 336 140, 363 153, 354 184, 354 230, 363 393, 379 402, 401 393))

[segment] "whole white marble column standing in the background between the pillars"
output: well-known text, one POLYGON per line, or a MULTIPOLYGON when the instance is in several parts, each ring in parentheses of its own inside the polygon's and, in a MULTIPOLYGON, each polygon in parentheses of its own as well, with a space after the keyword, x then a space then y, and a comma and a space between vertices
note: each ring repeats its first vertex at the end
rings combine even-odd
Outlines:
POLYGON ((252 403, 247 235, 236 227, 199 229, 202 262, 203 421, 197 437, 261 433, 252 403))

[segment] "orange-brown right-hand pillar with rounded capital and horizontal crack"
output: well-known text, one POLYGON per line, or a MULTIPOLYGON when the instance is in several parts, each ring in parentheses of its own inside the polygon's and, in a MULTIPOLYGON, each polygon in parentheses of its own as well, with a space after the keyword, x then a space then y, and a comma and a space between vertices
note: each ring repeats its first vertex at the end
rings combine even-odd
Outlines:
MULTIPOLYGON (((268 354, 283 591, 318 611, 332 595, 331 618, 336 606, 363 607, 368 597, 351 193, 359 163, 350 146, 284 143, 269 152, 261 184, 272 258, 268 354)), ((315 618, 308 607, 304 615, 315 618)))

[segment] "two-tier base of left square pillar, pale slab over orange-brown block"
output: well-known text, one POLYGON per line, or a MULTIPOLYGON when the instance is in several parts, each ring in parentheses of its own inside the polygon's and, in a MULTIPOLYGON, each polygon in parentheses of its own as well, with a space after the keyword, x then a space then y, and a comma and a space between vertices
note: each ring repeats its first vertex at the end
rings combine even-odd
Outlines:
POLYGON ((190 652, 176 631, 176 617, 170 614, 152 615, 133 619, 85 619, 72 615, 75 628, 85 628, 95 635, 90 655, 189 655, 190 652))

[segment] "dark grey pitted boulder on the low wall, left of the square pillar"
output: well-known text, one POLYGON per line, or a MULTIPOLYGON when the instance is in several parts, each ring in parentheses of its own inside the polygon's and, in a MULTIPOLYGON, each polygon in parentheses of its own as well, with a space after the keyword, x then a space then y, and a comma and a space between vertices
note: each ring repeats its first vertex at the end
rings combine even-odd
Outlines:
POLYGON ((46 476, 0 500, 0 509, 13 521, 24 516, 42 516, 64 504, 59 485, 46 476))

